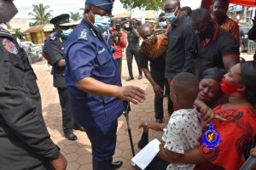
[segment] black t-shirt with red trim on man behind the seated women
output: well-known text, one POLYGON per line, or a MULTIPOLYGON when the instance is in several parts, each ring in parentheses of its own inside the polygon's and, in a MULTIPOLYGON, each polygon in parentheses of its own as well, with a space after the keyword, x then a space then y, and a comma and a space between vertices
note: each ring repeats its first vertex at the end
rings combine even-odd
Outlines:
POLYGON ((228 32, 216 26, 214 36, 210 42, 201 42, 197 38, 198 56, 195 62, 196 75, 209 68, 218 67, 225 69, 223 57, 237 57, 239 42, 228 32))

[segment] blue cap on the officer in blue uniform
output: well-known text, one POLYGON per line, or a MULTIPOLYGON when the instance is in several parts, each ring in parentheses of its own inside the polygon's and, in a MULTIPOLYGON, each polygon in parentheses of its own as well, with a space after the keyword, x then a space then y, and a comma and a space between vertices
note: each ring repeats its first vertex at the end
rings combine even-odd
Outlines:
POLYGON ((85 5, 94 5, 102 8, 104 11, 111 13, 114 0, 86 0, 85 5))

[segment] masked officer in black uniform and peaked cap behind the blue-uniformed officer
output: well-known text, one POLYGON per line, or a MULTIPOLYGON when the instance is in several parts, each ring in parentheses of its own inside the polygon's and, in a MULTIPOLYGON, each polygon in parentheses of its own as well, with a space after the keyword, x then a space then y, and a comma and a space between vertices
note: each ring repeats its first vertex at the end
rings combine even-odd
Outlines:
POLYGON ((54 77, 54 87, 58 89, 62 111, 62 128, 64 136, 69 140, 78 139, 73 133, 73 128, 84 131, 77 123, 73 123, 70 94, 65 82, 64 44, 68 35, 73 31, 69 23, 69 14, 61 14, 49 20, 55 26, 55 34, 45 41, 44 49, 48 54, 49 64, 52 65, 51 74, 54 77))

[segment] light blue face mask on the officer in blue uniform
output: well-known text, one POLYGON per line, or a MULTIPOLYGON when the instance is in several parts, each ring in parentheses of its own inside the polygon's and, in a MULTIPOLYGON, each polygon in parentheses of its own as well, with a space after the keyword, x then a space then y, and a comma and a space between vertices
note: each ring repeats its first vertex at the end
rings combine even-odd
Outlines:
POLYGON ((94 24, 93 27, 96 31, 102 33, 107 31, 110 27, 111 19, 108 16, 101 16, 99 14, 94 14, 94 24))

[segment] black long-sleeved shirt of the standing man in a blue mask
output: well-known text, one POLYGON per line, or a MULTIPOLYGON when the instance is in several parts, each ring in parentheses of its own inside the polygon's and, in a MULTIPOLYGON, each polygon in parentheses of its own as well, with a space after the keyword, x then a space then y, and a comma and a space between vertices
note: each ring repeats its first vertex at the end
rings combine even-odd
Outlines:
POLYGON ((172 78, 179 72, 194 73, 196 41, 188 18, 181 17, 173 24, 168 41, 166 77, 172 78))

